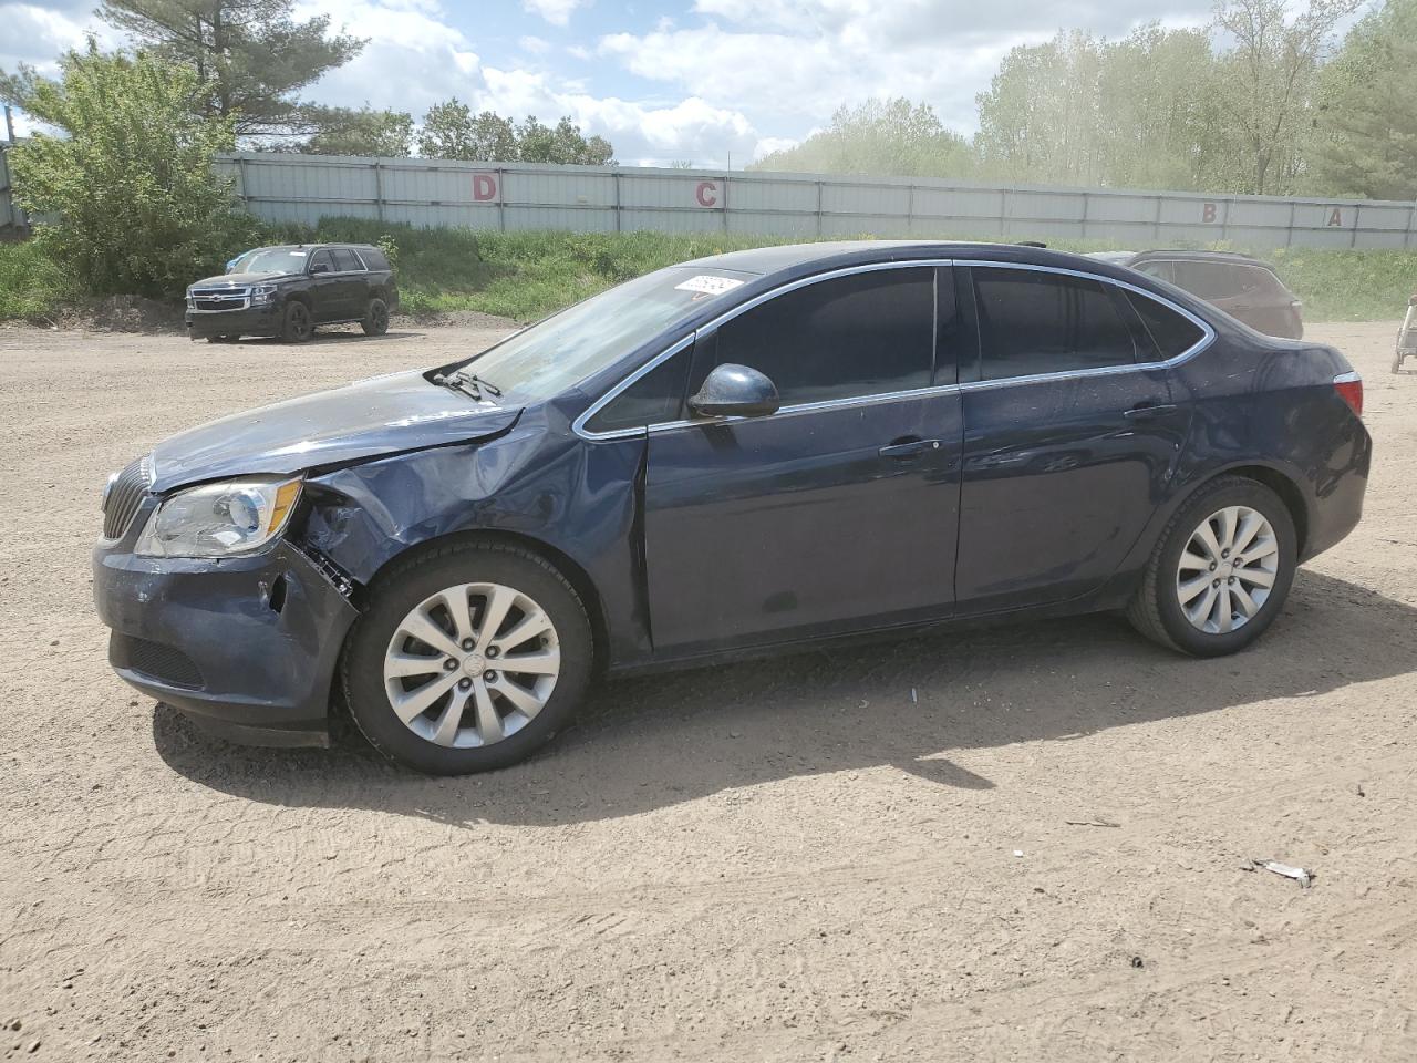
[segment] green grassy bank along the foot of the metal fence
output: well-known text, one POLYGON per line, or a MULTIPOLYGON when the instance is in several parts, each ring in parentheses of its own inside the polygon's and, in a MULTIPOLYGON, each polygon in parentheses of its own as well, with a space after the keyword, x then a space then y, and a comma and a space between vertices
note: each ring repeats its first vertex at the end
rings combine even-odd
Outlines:
MULTIPOLYGON (((941 234, 941 238, 948 238, 941 234)), ((480 310, 530 322, 621 281, 723 251, 792 242, 778 237, 662 232, 473 232, 324 218, 315 228, 272 227, 269 242, 393 242, 408 313, 480 310)), ((1104 251, 1100 241, 1050 241, 1067 251, 1104 251)), ((1214 244, 1214 249, 1233 249, 1214 244)), ((1390 320, 1417 291, 1417 251, 1288 248, 1260 252, 1322 320, 1390 320)), ((43 319, 75 293, 34 244, 0 244, 0 319, 43 319)))

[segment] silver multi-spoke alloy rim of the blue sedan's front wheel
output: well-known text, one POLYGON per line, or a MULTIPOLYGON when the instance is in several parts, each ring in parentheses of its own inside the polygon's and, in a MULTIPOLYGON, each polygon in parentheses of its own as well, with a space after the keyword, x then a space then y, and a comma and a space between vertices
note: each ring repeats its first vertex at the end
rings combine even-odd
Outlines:
POLYGON ((438 746, 492 746, 546 707, 560 639, 530 595, 496 583, 448 587, 415 605, 384 653, 384 692, 414 734, 438 746))

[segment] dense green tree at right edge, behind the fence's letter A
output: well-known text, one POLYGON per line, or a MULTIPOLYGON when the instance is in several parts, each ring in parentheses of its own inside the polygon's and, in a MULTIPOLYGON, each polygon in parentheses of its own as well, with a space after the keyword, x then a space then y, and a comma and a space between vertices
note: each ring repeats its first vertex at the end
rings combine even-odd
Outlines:
POLYGON ((1321 75, 1316 190, 1417 198, 1417 0, 1387 0, 1321 75))

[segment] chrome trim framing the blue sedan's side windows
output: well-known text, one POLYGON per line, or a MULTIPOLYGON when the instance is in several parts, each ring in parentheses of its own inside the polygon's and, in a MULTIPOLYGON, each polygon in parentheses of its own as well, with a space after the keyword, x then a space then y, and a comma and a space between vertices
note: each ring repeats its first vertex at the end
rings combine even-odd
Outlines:
POLYGON ((615 398, 618 398, 619 394, 625 391, 625 388, 628 388, 636 380, 643 377, 646 373, 660 366, 666 360, 672 359, 674 354, 684 350, 686 347, 691 346, 694 342, 697 342, 699 336, 720 327, 726 322, 733 320, 741 313, 747 313, 755 306, 761 306, 768 299, 775 299, 779 295, 795 292, 799 288, 805 288, 812 283, 819 283, 820 281, 830 281, 839 276, 850 276, 852 274, 867 274, 879 269, 910 269, 915 266, 931 266, 931 268, 978 266, 983 269, 1027 269, 1039 274, 1058 274, 1061 276, 1077 276, 1084 281, 1097 281, 1100 283, 1110 283, 1122 288, 1128 292, 1135 292, 1144 299, 1151 299, 1152 302, 1161 303, 1173 313, 1179 313, 1182 317, 1185 317, 1197 329, 1200 329, 1202 334, 1199 340, 1196 340, 1180 354, 1176 354, 1170 359, 1162 359, 1161 361, 1134 361, 1129 364, 1118 364, 1118 366, 1098 366, 1095 369, 1060 370, 1058 373, 1034 373, 1026 377, 1002 377, 999 380, 971 380, 959 384, 937 384, 931 387, 914 388, 910 391, 887 391, 873 395, 856 395, 853 398, 826 400, 822 403, 796 403, 794 405, 781 407, 775 414, 771 414, 771 417, 784 417, 784 415, 792 417, 796 414, 822 412, 825 410, 846 410, 850 407, 871 405, 876 403, 896 403, 908 398, 945 395, 952 391, 961 391, 961 393, 988 391, 1002 387, 1020 387, 1024 384, 1039 384, 1057 380, 1073 380, 1073 378, 1083 380, 1088 377, 1107 377, 1107 376, 1117 376, 1119 373, 1158 373, 1175 369, 1176 366, 1189 361, 1190 359, 1196 357, 1203 350, 1206 350, 1216 340, 1216 330, 1210 327, 1210 323, 1206 322, 1199 315, 1192 313, 1185 306, 1180 306, 1179 303, 1175 303, 1162 295, 1156 295, 1155 292, 1148 292, 1145 288, 1138 288, 1136 285, 1129 283, 1127 281, 1121 281, 1112 276, 1102 276, 1101 274, 1091 274, 1083 269, 1070 269, 1067 266, 1034 265, 1032 262, 999 262, 992 259, 971 259, 971 258, 921 258, 921 259, 911 259, 908 262, 869 262, 864 265, 845 266, 842 269, 832 269, 825 274, 813 274, 812 276, 803 276, 789 283, 785 283, 779 288, 774 288, 769 292, 762 292, 761 295, 754 296, 752 299, 750 299, 745 303, 741 303, 740 306, 734 306, 730 310, 724 310, 724 313, 721 313, 718 317, 714 317, 703 327, 696 329, 687 336, 683 336, 679 340, 676 340, 665 351, 656 354, 653 359, 646 361, 638 370, 631 373, 619 384, 606 391, 601 398, 592 403, 584 414, 575 418, 575 421, 571 424, 571 429, 582 439, 598 442, 604 439, 629 439, 639 435, 648 435, 650 432, 663 432, 674 428, 733 424, 735 421, 745 421, 745 420, 761 420, 761 418, 744 418, 744 417, 713 417, 713 418, 697 418, 693 421, 663 421, 657 424, 645 425, 642 428, 619 428, 612 432, 591 432, 585 429, 587 421, 589 421, 595 414, 598 414, 601 408, 604 408, 615 398))

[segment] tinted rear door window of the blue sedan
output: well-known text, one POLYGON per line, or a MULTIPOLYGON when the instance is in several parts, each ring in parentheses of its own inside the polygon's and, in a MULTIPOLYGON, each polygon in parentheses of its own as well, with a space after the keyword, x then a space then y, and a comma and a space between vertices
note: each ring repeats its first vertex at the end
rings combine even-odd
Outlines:
POLYGON ((1063 274, 976 268, 983 380, 1135 361, 1122 289, 1063 274))

